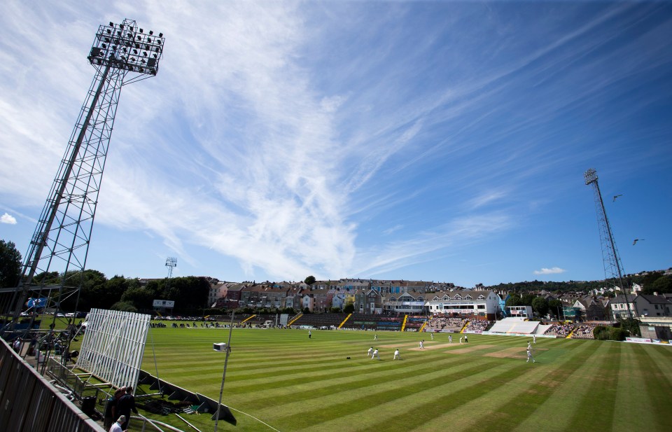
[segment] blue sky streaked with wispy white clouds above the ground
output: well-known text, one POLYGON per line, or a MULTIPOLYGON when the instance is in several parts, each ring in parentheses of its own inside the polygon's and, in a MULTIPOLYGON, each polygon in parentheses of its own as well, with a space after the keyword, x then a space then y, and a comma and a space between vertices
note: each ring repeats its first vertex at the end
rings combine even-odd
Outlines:
POLYGON ((665 2, 3 1, 0 238, 22 253, 94 34, 124 18, 166 48, 121 95, 87 260, 107 277, 174 256, 228 281, 603 279, 589 168, 624 270, 672 266, 665 2))

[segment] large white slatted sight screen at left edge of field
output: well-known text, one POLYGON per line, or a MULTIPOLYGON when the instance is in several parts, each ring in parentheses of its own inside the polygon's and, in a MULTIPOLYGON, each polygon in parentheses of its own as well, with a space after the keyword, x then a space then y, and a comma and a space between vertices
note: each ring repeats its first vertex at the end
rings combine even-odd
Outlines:
POLYGON ((76 367, 111 382, 135 389, 150 315, 91 309, 76 367))

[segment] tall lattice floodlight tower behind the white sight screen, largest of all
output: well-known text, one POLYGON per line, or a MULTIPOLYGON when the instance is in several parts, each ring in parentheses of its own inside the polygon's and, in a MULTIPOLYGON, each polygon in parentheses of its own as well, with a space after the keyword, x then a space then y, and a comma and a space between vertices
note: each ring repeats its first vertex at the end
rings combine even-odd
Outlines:
POLYGON ((13 323, 31 289, 57 289, 57 307, 64 289, 78 293, 121 88, 157 74, 164 43, 162 33, 145 33, 134 20, 99 26, 87 57, 95 76, 25 255, 13 323), (49 272, 58 280, 35 284, 49 272))

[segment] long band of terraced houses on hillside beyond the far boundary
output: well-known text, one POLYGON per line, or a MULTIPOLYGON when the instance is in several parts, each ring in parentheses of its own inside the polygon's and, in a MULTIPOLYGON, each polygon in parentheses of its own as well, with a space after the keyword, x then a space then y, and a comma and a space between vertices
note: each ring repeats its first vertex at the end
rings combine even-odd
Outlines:
MULTIPOLYGON (((605 289, 605 293, 612 293, 605 289)), ((433 281, 339 279, 304 282, 214 281, 209 298, 211 307, 237 309, 293 309, 311 313, 330 312, 352 305, 360 314, 447 314, 505 316, 505 302, 513 293, 481 288, 459 288, 433 281)), ((672 300, 663 295, 624 295, 615 298, 591 293, 570 292, 556 295, 539 291, 533 295, 546 300, 560 300, 549 314, 578 321, 609 321, 625 318, 628 306, 635 316, 672 316, 672 300)))

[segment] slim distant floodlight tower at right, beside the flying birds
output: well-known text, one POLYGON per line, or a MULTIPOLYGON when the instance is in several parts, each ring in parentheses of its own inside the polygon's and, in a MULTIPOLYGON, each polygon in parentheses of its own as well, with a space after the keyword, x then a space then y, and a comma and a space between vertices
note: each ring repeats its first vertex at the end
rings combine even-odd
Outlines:
POLYGON ((597 183, 597 172, 590 168, 584 172, 583 176, 586 180, 586 184, 588 186, 593 186, 593 191, 595 194, 595 209, 597 211, 597 224, 600 229, 604 277, 605 279, 618 279, 621 289, 625 295, 625 304, 628 308, 628 317, 632 318, 630 302, 628 300, 629 286, 624 284, 622 271, 623 265, 621 263, 621 258, 618 255, 618 249, 616 249, 616 242, 614 241, 614 235, 611 232, 611 226, 609 225, 609 219, 607 218, 607 211, 604 209, 604 201, 602 200, 602 194, 600 193, 600 186, 597 183))

